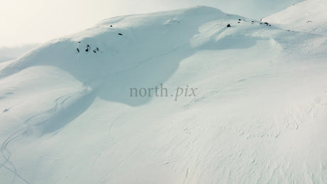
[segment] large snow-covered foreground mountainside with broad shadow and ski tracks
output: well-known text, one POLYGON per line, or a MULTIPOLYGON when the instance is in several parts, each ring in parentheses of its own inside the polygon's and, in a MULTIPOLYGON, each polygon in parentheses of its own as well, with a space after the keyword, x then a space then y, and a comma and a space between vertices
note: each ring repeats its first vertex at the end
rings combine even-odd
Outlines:
POLYGON ((326 49, 205 6, 53 40, 0 63, 0 183, 327 183, 326 49))

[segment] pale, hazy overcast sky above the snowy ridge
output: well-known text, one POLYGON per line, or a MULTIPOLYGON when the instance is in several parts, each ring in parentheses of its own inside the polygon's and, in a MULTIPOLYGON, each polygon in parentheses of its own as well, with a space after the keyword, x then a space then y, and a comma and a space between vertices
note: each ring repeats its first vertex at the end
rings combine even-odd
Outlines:
POLYGON ((262 18, 301 0, 5 0, 0 47, 42 43, 89 28, 104 18, 197 5, 262 18))

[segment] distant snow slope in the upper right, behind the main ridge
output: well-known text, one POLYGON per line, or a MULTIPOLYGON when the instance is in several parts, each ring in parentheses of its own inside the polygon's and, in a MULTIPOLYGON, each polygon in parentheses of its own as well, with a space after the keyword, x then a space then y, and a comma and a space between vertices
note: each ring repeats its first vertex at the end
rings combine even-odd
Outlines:
POLYGON ((327 1, 307 0, 294 4, 288 9, 264 18, 269 23, 277 23, 279 27, 327 35, 327 1))

